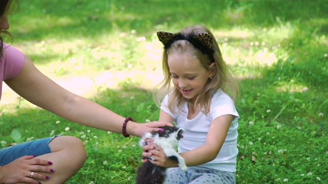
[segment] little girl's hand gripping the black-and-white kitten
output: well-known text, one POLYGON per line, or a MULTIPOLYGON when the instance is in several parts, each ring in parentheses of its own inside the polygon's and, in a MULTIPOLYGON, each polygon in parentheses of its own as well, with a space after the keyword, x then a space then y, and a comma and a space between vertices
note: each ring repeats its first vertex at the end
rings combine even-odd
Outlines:
MULTIPOLYGON (((144 154, 144 152, 142 153, 142 156, 151 156, 153 159, 148 159, 148 161, 156 166, 162 167, 162 168, 170 168, 170 167, 178 167, 178 164, 173 161, 172 159, 168 158, 166 156, 166 154, 163 152, 162 148, 150 143, 147 146, 144 146, 143 150, 146 150, 148 152, 146 152, 144 154), (153 149, 151 149, 153 148, 153 149)), ((141 160, 142 163, 145 163, 141 160)), ((147 161, 146 161, 147 162, 147 161)))

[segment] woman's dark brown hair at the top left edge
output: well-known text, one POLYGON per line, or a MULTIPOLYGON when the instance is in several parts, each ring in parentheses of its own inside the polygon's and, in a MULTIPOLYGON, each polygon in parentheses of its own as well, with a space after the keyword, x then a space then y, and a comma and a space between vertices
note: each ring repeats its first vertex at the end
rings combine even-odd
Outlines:
MULTIPOLYGON (((14 6, 12 6, 12 4, 18 4, 18 1, 17 0, 1 0, 0 1, 0 16, 3 16, 3 15, 8 15, 10 14, 13 9, 14 9, 14 6)), ((9 35, 10 37, 11 34, 5 30, 5 29, 2 29, 0 30, 0 57, 3 56, 3 50, 4 50, 4 39, 3 39, 3 34, 6 34, 6 35, 9 35)))

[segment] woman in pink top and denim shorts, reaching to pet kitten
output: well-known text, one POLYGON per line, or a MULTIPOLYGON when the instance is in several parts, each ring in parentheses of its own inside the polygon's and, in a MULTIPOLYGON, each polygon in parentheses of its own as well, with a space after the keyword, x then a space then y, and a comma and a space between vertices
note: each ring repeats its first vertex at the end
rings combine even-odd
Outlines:
MULTIPOLYGON (((138 124, 60 87, 40 73, 31 60, 3 42, 9 34, 7 15, 15 0, 0 1, 0 98, 2 81, 31 103, 60 117, 93 128, 142 136, 169 123, 138 124)), ((33 126, 33 125, 31 125, 33 126)), ((35 133, 38 127, 35 127, 35 133)), ((73 136, 55 136, 0 149, 0 183, 65 183, 83 167, 83 143, 73 136)))

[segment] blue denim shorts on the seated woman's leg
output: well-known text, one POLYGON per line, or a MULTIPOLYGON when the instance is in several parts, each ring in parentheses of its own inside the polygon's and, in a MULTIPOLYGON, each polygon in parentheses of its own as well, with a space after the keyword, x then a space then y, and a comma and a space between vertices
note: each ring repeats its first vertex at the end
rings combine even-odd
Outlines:
POLYGON ((49 143, 57 136, 61 135, 29 141, 26 143, 0 149, 0 166, 5 166, 13 162, 13 160, 25 155, 39 156, 51 153, 49 143))

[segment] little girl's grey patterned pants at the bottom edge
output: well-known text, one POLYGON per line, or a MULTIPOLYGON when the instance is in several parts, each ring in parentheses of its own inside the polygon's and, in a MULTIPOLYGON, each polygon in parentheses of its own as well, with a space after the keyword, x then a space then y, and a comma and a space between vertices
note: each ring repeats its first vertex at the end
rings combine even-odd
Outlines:
POLYGON ((208 169, 203 167, 188 167, 187 172, 180 168, 169 168, 166 171, 165 184, 235 184, 236 173, 208 169))

